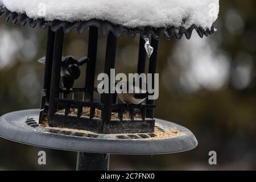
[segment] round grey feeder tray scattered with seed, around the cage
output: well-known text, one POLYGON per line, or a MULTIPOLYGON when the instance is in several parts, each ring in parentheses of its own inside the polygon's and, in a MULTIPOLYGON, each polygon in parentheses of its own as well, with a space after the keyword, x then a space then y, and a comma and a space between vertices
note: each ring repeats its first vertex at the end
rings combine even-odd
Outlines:
POLYGON ((154 134, 98 134, 43 127, 38 120, 38 109, 5 114, 0 117, 0 137, 32 146, 97 154, 171 154, 197 146, 191 131, 162 119, 155 119, 154 134))

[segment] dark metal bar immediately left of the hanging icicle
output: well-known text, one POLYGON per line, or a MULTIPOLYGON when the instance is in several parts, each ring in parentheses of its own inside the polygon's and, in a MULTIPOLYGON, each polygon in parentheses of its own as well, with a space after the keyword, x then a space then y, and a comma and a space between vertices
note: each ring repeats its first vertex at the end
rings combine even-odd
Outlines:
POLYGON ((145 41, 143 38, 139 38, 139 58, 137 73, 145 73, 146 71, 146 50, 144 48, 145 41))

